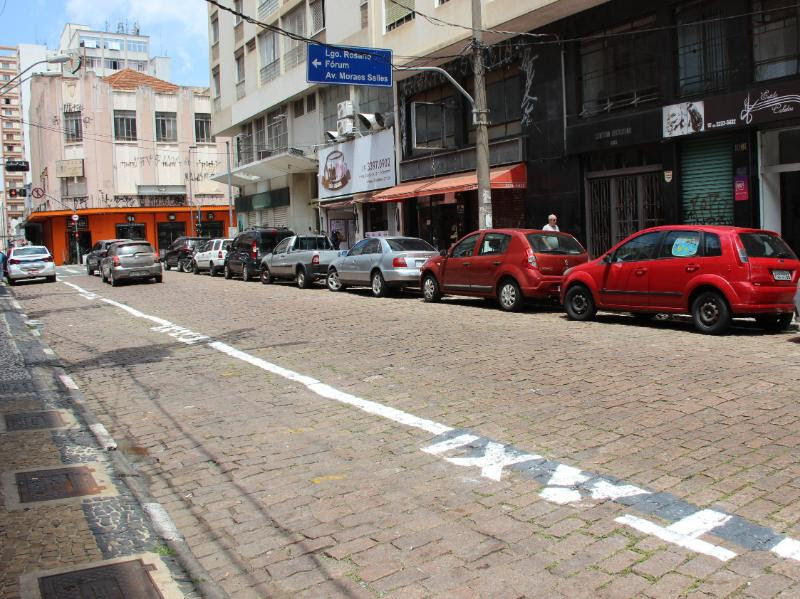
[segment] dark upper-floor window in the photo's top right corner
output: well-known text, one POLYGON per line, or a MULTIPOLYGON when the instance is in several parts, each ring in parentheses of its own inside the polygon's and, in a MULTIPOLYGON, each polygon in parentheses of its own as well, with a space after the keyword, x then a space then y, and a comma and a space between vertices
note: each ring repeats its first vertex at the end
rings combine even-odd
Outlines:
POLYGON ((786 0, 753 3, 753 63, 756 81, 795 75, 800 71, 798 11, 786 0))

